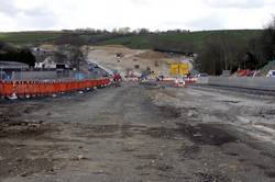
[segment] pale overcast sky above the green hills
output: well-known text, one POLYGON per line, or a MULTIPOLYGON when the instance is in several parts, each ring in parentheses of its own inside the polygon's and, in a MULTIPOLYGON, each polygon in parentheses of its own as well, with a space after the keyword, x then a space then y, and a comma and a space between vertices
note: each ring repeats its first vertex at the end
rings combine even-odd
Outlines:
POLYGON ((275 0, 0 0, 0 31, 262 29, 275 0))

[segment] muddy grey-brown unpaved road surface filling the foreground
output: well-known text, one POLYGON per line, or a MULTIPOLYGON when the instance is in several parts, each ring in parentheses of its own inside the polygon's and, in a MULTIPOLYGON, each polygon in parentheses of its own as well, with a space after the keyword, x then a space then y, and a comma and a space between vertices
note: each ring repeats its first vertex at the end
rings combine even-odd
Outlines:
POLYGON ((275 181, 274 101, 138 83, 1 101, 0 181, 275 181))

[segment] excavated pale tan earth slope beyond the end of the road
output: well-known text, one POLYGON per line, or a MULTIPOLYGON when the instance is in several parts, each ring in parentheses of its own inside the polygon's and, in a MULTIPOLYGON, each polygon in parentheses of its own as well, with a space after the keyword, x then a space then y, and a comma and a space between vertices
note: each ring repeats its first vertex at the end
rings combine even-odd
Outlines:
POLYGON ((127 73, 128 70, 142 72, 150 68, 157 75, 169 75, 169 65, 183 59, 183 56, 172 56, 153 50, 131 49, 122 45, 94 46, 88 52, 88 59, 109 69, 127 73), (118 58, 116 55, 122 56, 118 58))

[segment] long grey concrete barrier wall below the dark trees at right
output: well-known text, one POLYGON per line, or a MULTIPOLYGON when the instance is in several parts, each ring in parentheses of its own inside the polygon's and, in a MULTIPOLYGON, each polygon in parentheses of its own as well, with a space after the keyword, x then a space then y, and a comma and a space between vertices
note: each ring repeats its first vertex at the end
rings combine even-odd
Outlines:
POLYGON ((268 77, 208 77, 197 83, 275 91, 275 78, 268 77))

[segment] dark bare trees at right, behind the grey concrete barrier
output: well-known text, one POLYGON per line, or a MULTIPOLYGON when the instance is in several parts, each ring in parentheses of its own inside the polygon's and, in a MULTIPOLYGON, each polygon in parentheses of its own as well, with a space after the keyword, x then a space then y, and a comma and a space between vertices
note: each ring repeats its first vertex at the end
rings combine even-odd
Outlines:
POLYGON ((241 42, 226 33, 209 37, 198 53, 196 67, 210 75, 221 75, 238 69, 260 69, 275 59, 275 18, 258 36, 241 42))

